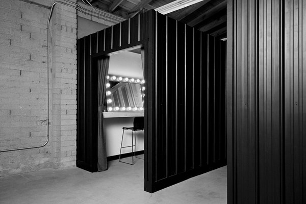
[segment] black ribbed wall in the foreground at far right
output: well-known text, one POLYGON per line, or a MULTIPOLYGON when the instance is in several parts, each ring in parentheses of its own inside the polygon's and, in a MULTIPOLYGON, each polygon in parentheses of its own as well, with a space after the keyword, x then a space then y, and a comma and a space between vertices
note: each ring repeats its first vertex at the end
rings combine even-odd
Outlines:
POLYGON ((227 9, 228 203, 305 203, 306 4, 227 9))

